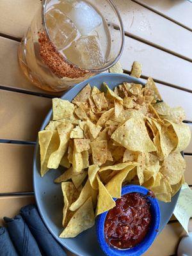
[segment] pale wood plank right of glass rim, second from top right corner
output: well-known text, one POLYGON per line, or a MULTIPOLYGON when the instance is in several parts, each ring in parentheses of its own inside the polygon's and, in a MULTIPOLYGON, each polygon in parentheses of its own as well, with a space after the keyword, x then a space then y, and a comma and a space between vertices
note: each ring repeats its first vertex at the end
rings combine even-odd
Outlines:
POLYGON ((114 0, 125 31, 150 44, 192 59, 192 33, 131 0, 114 0))

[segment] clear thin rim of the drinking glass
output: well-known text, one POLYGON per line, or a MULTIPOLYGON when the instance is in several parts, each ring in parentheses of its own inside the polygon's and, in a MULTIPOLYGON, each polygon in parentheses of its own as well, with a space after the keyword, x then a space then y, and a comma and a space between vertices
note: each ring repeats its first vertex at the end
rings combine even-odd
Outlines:
MULTIPOLYGON (((46 36, 49 38, 51 44, 54 46, 54 48, 57 51, 57 47, 52 43, 51 41, 51 36, 49 35, 49 30, 47 29, 47 24, 45 21, 45 6, 47 5, 47 1, 48 0, 42 0, 42 10, 41 10, 41 14, 42 14, 42 25, 44 28, 44 31, 46 33, 46 36)), ((118 56, 116 56, 115 60, 113 60, 109 65, 107 65, 104 68, 99 68, 99 69, 83 69, 81 67, 78 67, 76 64, 72 63, 71 61, 67 60, 67 58, 65 58, 66 64, 68 63, 68 67, 70 67, 70 72, 72 67, 74 68, 74 70, 77 72, 77 70, 81 70, 81 72, 85 72, 86 73, 100 73, 100 72, 104 72, 105 70, 107 70, 108 68, 112 67, 113 65, 115 65, 115 63, 120 59, 120 56, 122 55, 122 52, 124 50, 124 44, 125 44, 125 33, 124 33, 124 24, 122 21, 122 18, 120 16, 120 13, 118 12, 118 9, 116 8, 115 4, 113 3, 112 0, 107 0, 110 4, 110 6, 113 8, 114 12, 116 13, 118 20, 120 22, 120 32, 121 32, 121 36, 122 36, 122 42, 121 42, 121 46, 120 46, 120 51, 118 52, 118 56), (71 66, 72 65, 72 66, 71 66)), ((59 54, 59 52, 58 52, 59 54)), ((64 58, 63 58, 64 59, 64 58)), ((55 73, 56 74, 56 73, 55 73)), ((67 76, 69 77, 69 76, 67 76)), ((79 76, 80 77, 80 76, 79 76)))

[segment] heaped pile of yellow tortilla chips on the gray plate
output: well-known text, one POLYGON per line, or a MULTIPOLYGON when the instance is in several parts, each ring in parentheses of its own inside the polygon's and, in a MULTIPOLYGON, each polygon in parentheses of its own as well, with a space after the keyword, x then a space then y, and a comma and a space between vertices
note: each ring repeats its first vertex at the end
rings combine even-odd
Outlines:
MULTIPOLYGON (((119 67, 118 67, 119 70, 119 67)), ((114 67, 113 67, 114 71, 114 67)), ((140 77, 141 65, 132 66, 140 77)), ((95 216, 115 206, 122 186, 138 184, 170 202, 184 182, 180 151, 189 144, 184 110, 162 101, 152 80, 123 83, 112 91, 87 84, 72 100, 52 100, 52 120, 40 131, 41 175, 63 166, 63 227, 75 237, 95 216)))

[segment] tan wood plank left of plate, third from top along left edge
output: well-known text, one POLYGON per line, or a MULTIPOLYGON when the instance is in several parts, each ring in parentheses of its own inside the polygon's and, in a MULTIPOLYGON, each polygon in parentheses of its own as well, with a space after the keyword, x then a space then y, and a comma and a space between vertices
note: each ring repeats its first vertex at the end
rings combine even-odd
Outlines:
POLYGON ((36 141, 51 105, 51 99, 0 90, 0 138, 36 141))

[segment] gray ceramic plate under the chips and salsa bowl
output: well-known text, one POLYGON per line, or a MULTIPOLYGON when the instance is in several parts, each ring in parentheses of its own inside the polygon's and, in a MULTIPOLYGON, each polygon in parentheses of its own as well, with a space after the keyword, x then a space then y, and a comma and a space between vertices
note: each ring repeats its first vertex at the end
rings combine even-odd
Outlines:
MULTIPOLYGON (((139 79, 124 75, 124 74, 99 74, 94 76, 83 83, 77 84, 74 88, 70 89, 61 99, 72 100, 81 91, 81 89, 90 83, 91 86, 102 88, 102 82, 106 82, 108 86, 113 89, 116 85, 129 82, 143 84, 139 79)), ((41 129, 44 129, 49 122, 52 111, 49 111, 45 117, 41 129)), ((52 235, 71 252, 79 256, 103 256, 104 253, 100 250, 97 243, 95 227, 84 231, 82 234, 75 238, 59 238, 61 230, 62 210, 63 210, 63 195, 61 192, 61 185, 54 184, 53 180, 61 174, 61 170, 50 170, 44 178, 40 177, 40 157, 38 142, 36 143, 36 152, 33 161, 33 184, 35 189, 36 204, 45 222, 45 225, 52 233, 52 235)), ((177 202, 179 193, 172 198, 172 202, 163 203, 159 202, 161 209, 161 223, 159 232, 164 228, 164 225, 170 220, 173 209, 177 202)))

